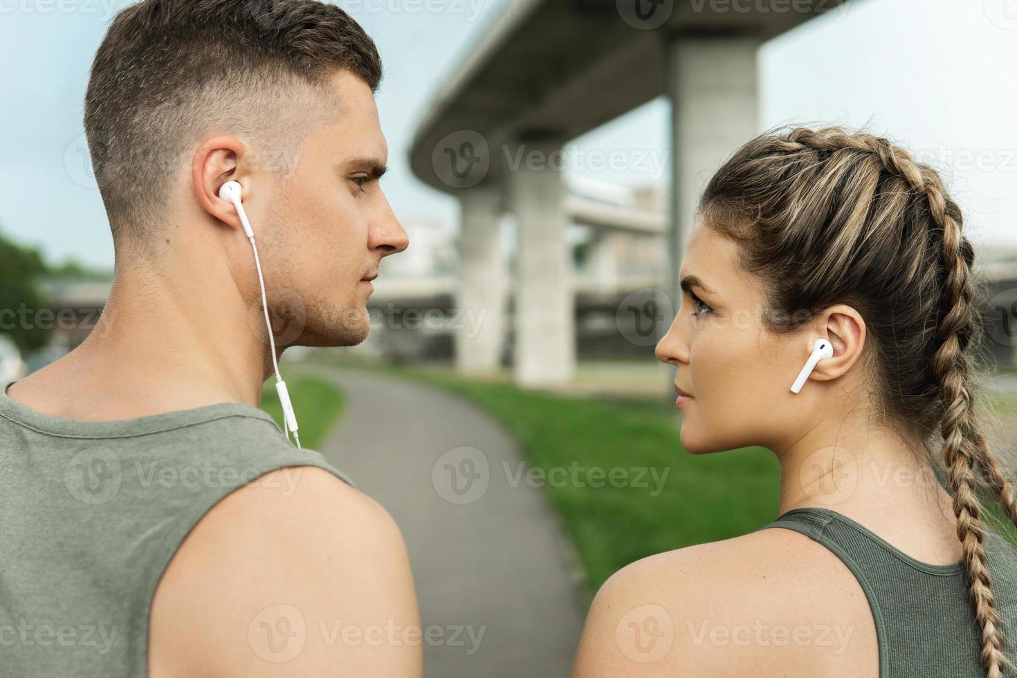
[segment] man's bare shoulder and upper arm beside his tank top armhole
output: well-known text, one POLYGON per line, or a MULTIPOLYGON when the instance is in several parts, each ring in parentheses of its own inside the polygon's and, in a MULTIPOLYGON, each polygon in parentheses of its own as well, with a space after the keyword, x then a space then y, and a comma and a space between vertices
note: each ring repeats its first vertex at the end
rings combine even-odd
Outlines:
MULTIPOLYGON (((153 599, 149 669, 260 675, 285 663, 292 675, 310 675, 339 659, 364 669, 362 649, 337 642, 330 629, 418 624, 416 615, 409 559, 387 511, 324 469, 279 469, 222 499, 177 550, 153 599), (296 635, 280 635, 284 626, 296 635)), ((415 652, 374 656, 412 666, 415 652)))

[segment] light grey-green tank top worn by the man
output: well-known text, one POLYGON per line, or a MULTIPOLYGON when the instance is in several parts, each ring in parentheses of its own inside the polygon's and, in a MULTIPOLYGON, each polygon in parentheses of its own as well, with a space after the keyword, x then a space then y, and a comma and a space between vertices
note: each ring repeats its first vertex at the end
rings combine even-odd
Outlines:
POLYGON ((119 421, 29 410, 0 382, 0 676, 147 675, 148 611, 191 528, 278 469, 321 454, 239 403, 119 421))

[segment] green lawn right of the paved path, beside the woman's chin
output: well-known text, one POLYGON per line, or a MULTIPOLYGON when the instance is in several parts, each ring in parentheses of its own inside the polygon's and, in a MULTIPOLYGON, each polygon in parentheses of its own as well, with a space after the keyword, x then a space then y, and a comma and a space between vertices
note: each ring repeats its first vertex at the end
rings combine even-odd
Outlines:
POLYGON ((689 454, 678 440, 680 416, 664 398, 571 397, 438 370, 381 369, 484 408, 516 436, 530 465, 545 473, 567 471, 576 463, 584 470, 580 478, 599 467, 605 474, 624 470, 635 480, 639 470, 646 470, 647 487, 544 486, 573 538, 591 592, 635 560, 743 535, 777 515, 780 475, 773 454, 763 448, 689 454), (662 483, 654 481, 651 470, 662 483))

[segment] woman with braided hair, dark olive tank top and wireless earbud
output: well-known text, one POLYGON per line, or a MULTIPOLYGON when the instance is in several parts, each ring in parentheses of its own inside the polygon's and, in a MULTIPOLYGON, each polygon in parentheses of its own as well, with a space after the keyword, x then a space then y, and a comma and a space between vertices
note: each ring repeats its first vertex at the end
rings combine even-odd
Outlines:
POLYGON ((977 488, 1017 505, 975 415, 974 253, 939 176, 798 128, 742 146, 699 215, 657 357, 685 449, 776 453, 780 517, 615 573, 574 678, 1012 675, 1017 553, 977 488), (792 392, 818 340, 832 356, 792 392))

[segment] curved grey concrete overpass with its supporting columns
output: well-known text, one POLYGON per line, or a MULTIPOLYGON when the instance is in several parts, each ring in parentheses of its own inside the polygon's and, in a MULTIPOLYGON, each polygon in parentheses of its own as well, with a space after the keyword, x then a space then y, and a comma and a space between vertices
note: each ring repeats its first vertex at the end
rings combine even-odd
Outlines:
MULTIPOLYGON (((503 311, 514 288, 519 383, 567 381, 575 368, 574 290, 564 232, 565 142, 656 98, 672 102, 665 225, 673 296, 698 193, 709 171, 758 133, 757 53, 763 41, 844 0, 512 0, 437 88, 410 151, 413 172, 462 205, 458 303, 503 311), (518 226, 505 270, 497 227, 518 226)), ((592 209, 589 222, 597 226, 592 209)), ((605 209, 601 208, 603 212, 605 209)), ((605 219, 618 217, 607 214, 605 219)), ((660 225, 651 218, 648 234, 660 225)), ((503 326, 457 343, 465 372, 496 366, 503 326)))

